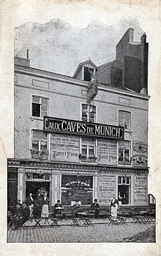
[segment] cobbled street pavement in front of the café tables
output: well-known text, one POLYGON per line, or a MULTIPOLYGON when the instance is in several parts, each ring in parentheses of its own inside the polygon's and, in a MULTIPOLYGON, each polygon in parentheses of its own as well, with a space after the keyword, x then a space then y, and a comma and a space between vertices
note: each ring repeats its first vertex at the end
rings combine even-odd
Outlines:
POLYGON ((59 226, 34 227, 33 221, 27 221, 27 227, 18 230, 9 228, 8 243, 102 243, 128 242, 132 237, 138 237, 137 242, 151 241, 149 230, 154 230, 154 224, 127 223, 109 225, 106 219, 94 219, 93 226, 71 227, 72 220, 60 220, 59 226), (143 235, 142 235, 143 234, 143 235), (146 239, 141 241, 146 234, 146 239), (147 235, 148 234, 148 235, 147 235), (145 241, 146 240, 146 241, 145 241))

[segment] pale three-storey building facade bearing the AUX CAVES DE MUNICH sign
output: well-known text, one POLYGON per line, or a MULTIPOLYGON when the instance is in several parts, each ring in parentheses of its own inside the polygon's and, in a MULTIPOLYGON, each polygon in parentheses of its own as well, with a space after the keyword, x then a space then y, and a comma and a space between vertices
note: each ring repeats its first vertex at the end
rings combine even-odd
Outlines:
MULTIPOLYGON (((138 85, 132 90, 102 81, 104 69, 87 60, 67 77, 15 57, 10 208, 38 190, 48 191, 51 206, 58 199, 91 205, 94 198, 108 206, 119 192, 123 205, 148 205, 149 96, 143 86, 138 91, 138 85)), ((108 76, 118 77, 118 70, 113 75, 109 68, 108 76)))

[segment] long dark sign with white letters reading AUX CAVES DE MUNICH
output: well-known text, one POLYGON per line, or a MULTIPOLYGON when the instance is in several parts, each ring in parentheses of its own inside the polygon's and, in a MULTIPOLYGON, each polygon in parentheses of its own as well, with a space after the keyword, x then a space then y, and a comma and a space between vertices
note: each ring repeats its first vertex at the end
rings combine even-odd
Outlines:
POLYGON ((44 130, 46 132, 68 133, 72 135, 124 139, 124 127, 72 121, 48 116, 44 117, 44 130))

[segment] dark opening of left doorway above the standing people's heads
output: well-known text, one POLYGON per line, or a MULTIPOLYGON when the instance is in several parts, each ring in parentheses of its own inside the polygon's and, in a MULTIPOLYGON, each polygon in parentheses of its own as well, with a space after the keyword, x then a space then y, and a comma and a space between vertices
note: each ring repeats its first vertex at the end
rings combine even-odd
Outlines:
POLYGON ((49 196, 50 182, 26 182, 26 198, 29 196, 29 193, 32 193, 33 198, 36 198, 37 192, 42 189, 45 189, 49 196))

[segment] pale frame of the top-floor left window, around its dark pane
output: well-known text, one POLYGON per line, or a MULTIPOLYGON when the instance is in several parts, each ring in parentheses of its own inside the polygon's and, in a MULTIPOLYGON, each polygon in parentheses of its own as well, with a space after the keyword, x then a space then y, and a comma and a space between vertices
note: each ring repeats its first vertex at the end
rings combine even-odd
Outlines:
POLYGON ((31 94, 31 118, 36 118, 36 119, 43 119, 44 115, 42 116, 42 105, 45 105, 45 104, 42 104, 42 98, 45 98, 48 100, 48 103, 47 103, 47 115, 49 115, 49 98, 46 97, 46 96, 42 96, 42 95, 38 95, 38 94, 31 94), (37 96, 37 97, 40 97, 40 102, 37 103, 37 102, 33 102, 33 96, 37 96), (40 104, 40 116, 37 116, 37 115, 32 115, 33 114, 33 105, 32 104, 40 104))

